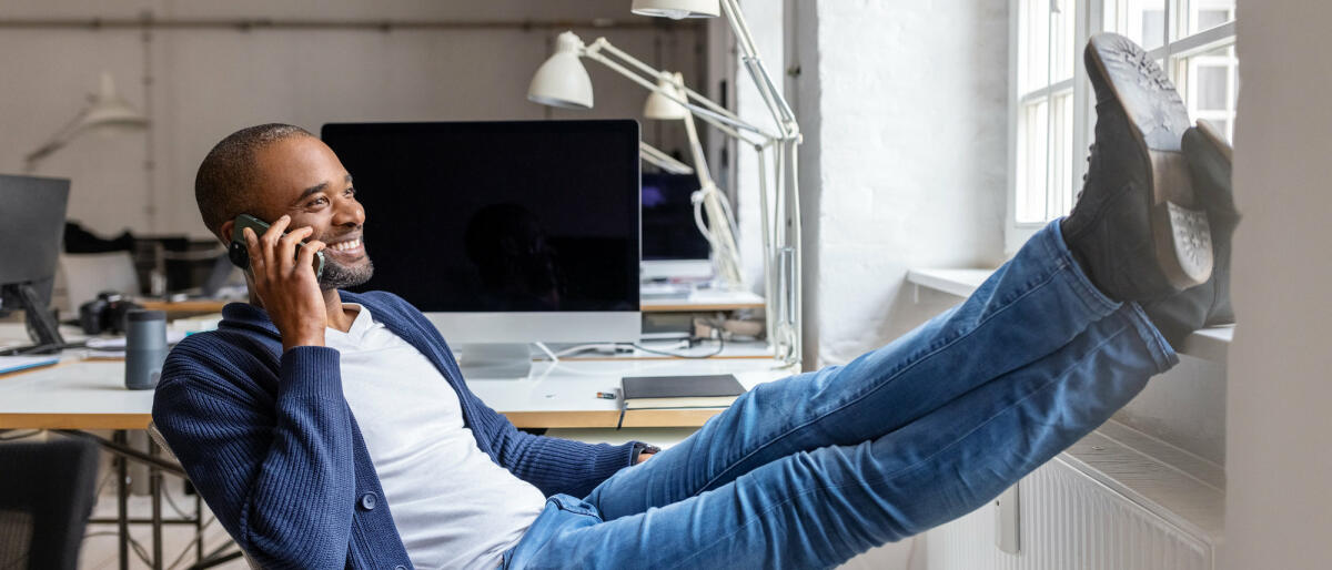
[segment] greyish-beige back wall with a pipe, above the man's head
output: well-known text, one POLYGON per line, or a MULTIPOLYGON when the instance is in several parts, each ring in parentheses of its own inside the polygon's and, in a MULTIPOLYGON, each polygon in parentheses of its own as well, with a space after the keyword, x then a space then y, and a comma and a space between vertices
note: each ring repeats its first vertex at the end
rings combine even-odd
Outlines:
MULTIPOLYGON (((445 31, 209 28, 137 29, 4 28, 0 31, 0 172, 21 158, 80 109, 84 95, 109 71, 124 96, 149 107, 145 133, 81 137, 41 164, 39 174, 73 180, 69 217, 95 230, 205 236, 193 198, 198 161, 232 131, 265 121, 317 132, 329 121, 639 117, 646 96, 599 65, 589 65, 597 95, 591 112, 551 111, 526 101, 531 73, 563 27, 521 28, 521 21, 578 23, 585 41, 605 35, 646 63, 702 81, 697 24, 642 27, 621 0, 488 3, 340 0, 332 3, 177 0, 8 1, 0 20, 304 19, 342 21, 502 21, 511 25, 445 31), (603 28, 589 24, 601 19, 603 28), (623 27, 633 24, 638 27, 623 27), (145 51, 147 48, 147 51, 145 51), (147 59, 145 59, 147 55, 147 59), (145 61, 148 61, 145 67, 145 61), (145 92, 143 77, 153 79, 145 92), (149 96, 151 95, 151 103, 149 96), (149 152, 152 174, 145 168, 149 152)), ((666 150, 683 149, 678 125, 643 123, 643 137, 666 150)))

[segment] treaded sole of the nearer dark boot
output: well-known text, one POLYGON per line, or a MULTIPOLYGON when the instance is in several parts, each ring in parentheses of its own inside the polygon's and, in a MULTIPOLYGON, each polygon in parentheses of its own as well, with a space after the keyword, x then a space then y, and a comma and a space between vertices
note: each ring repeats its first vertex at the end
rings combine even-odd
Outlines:
MULTIPOLYGON (((1104 41, 1130 43, 1114 35, 1092 37, 1094 44, 1104 41)), ((1212 274, 1212 234, 1207 213, 1193 192, 1188 162, 1180 152, 1180 140, 1188 128, 1188 112, 1173 85, 1140 48, 1123 53, 1128 55, 1126 65, 1107 67, 1098 45, 1092 49, 1091 60, 1100 76, 1106 77, 1115 103, 1128 117, 1132 125, 1130 131, 1147 165, 1147 206, 1156 265, 1176 289, 1201 285, 1212 274), (1135 112, 1140 109, 1131 109, 1124 104, 1126 100, 1144 103, 1163 96, 1167 99, 1163 111, 1171 115, 1167 117, 1135 112)))

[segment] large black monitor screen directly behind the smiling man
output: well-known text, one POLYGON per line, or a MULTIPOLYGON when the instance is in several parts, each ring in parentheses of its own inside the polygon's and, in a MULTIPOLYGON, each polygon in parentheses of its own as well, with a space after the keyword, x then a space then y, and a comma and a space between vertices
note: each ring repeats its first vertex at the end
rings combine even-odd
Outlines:
POLYGON ((365 206, 360 290, 425 312, 638 310, 638 123, 329 124, 365 206))

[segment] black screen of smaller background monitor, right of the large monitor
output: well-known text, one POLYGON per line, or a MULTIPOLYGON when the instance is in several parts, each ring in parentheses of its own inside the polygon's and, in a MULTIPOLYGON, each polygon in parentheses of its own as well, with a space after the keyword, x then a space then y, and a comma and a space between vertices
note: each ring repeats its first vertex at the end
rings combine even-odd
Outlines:
POLYGON ((709 257, 711 248, 694 221, 697 190, 694 174, 643 173, 643 260, 709 257))

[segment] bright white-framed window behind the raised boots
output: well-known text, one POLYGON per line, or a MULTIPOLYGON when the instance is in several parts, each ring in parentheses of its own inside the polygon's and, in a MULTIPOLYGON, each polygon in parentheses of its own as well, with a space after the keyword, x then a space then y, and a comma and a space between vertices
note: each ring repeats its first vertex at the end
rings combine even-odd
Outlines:
POLYGON ((1010 252, 1068 213, 1082 189, 1096 124, 1082 60, 1092 33, 1136 41, 1175 83, 1189 121, 1233 135, 1235 0, 1011 0, 1010 8, 1010 252))

